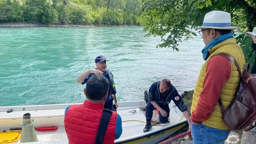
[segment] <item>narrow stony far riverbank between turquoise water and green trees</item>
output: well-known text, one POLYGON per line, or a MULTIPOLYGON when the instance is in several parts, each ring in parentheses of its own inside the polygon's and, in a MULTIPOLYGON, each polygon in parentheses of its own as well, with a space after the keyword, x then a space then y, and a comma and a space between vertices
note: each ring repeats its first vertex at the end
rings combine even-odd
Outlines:
POLYGON ((134 27, 138 25, 81 25, 81 24, 32 24, 32 23, 0 23, 0 27, 134 27))

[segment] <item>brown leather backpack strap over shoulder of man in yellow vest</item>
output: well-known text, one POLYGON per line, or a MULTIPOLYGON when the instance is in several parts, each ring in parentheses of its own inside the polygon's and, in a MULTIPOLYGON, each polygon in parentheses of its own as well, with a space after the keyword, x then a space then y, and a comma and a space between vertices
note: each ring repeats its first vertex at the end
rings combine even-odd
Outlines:
MULTIPOLYGON (((243 71, 243 73, 241 72, 240 67, 239 67, 238 64, 237 64, 237 61, 236 61, 231 55, 226 54, 226 53, 218 53, 218 54, 216 54, 216 55, 225 57, 225 58, 229 59, 231 62, 233 62, 234 65, 237 67, 237 70, 238 70, 239 73, 240 73, 240 77, 243 79, 243 74, 244 74, 245 71, 243 71)), ((214 55, 214 56, 215 56, 215 55, 214 55)), ((245 67, 244 67, 244 68, 245 68, 245 67)), ((247 73, 247 70, 246 70, 246 73, 247 73)), ((223 114, 223 113, 225 112, 225 108, 224 108, 224 106, 223 106, 223 103, 222 103, 220 97, 219 97, 218 103, 219 103, 219 107, 221 108, 221 112, 222 112, 222 114, 223 114)))

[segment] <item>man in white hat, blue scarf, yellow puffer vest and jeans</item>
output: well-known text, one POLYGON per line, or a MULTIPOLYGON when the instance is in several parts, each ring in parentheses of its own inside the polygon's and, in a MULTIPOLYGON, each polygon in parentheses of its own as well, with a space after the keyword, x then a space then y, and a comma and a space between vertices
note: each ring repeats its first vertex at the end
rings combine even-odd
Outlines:
POLYGON ((224 144, 231 129, 222 120, 219 98, 227 108, 236 93, 240 74, 227 58, 216 55, 227 53, 243 68, 244 54, 233 38, 231 16, 223 11, 211 11, 204 16, 199 34, 205 47, 202 49, 204 65, 196 82, 191 105, 192 136, 194 144, 224 144), (216 56, 215 56, 216 55, 216 56))

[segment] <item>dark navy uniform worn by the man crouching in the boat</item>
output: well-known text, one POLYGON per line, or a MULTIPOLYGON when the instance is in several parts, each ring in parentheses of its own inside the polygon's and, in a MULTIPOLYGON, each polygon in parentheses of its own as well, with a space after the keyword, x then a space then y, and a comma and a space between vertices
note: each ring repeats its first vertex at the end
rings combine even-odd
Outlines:
POLYGON ((174 101, 175 105, 180 109, 181 112, 187 110, 183 100, 181 99, 180 95, 178 94, 176 88, 171 84, 170 89, 167 90, 165 93, 160 93, 159 90, 160 82, 154 82, 150 89, 148 90, 148 101, 146 106, 146 118, 151 119, 153 116, 153 109, 154 106, 150 103, 150 101, 155 101, 157 104, 167 112, 167 116, 163 117, 162 114, 159 112, 159 119, 161 122, 165 123, 168 121, 170 109, 169 103, 171 100, 174 101))

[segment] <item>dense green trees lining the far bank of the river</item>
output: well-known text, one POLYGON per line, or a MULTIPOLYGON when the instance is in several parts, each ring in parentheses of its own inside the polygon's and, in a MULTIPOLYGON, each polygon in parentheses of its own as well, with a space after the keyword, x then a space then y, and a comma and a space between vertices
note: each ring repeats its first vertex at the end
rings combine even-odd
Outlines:
POLYGON ((0 0, 0 23, 138 25, 140 2, 140 0, 0 0))

